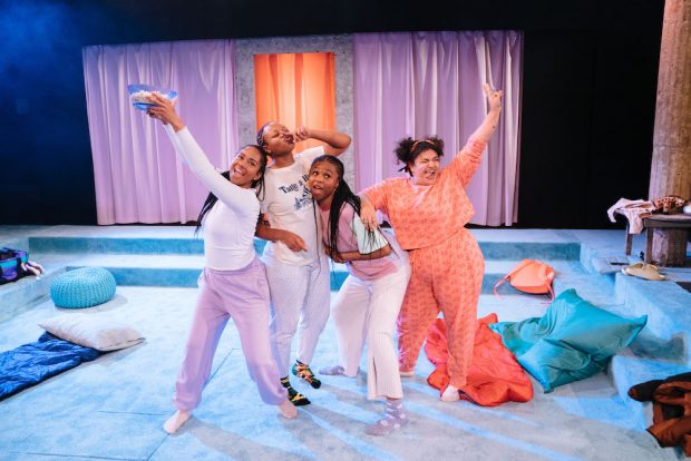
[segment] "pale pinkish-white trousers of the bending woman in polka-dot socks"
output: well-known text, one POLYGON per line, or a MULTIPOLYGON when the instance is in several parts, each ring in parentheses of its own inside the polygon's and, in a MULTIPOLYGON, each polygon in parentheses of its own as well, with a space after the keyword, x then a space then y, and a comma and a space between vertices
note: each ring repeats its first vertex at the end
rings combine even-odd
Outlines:
POLYGON ((395 273, 374 281, 349 275, 333 305, 339 365, 356 376, 367 339, 367 396, 403 396, 393 345, 393 325, 410 277, 408 258, 395 273))

